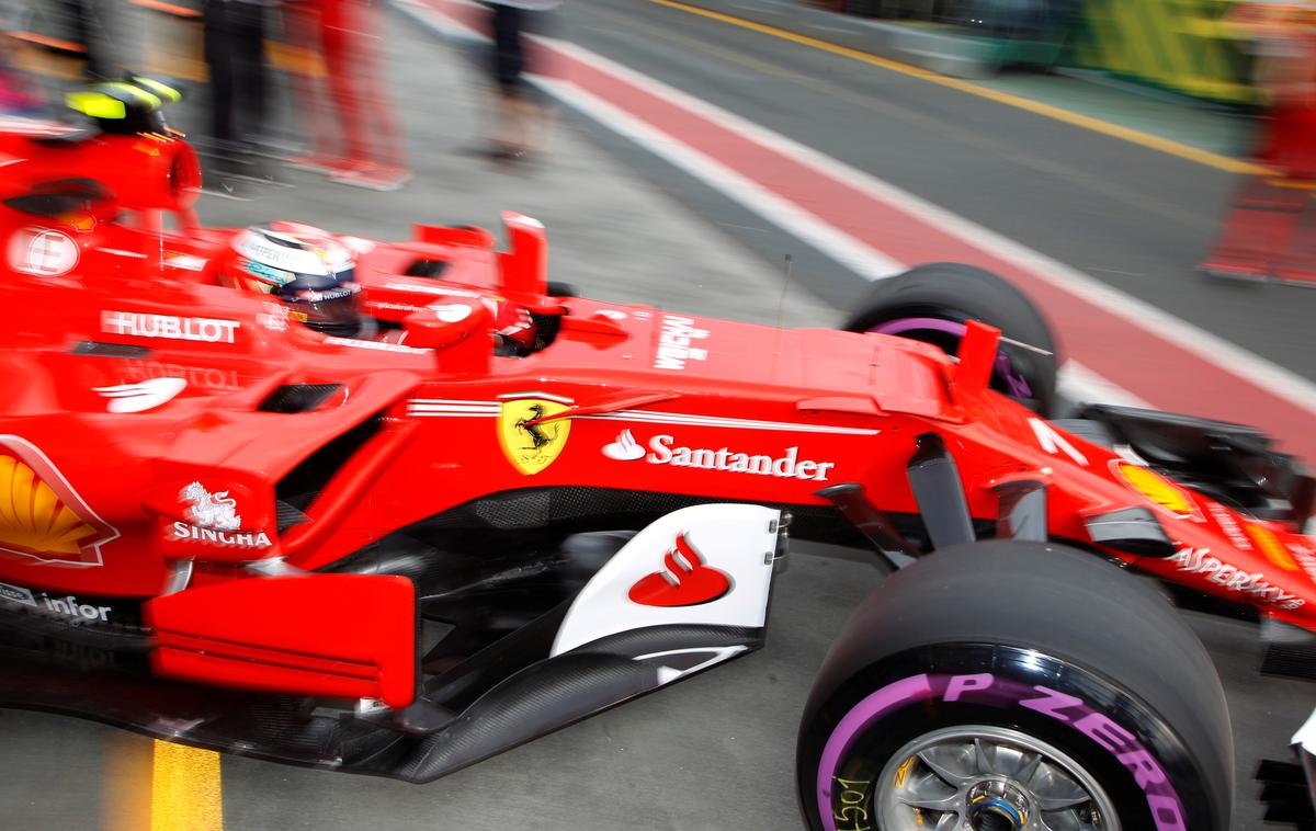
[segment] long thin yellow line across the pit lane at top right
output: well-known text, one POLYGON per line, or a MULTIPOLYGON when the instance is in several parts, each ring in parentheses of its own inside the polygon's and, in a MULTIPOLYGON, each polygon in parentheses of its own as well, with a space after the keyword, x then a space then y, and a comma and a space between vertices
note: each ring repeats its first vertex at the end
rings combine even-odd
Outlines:
POLYGON ((829 43, 826 41, 820 41, 817 38, 812 38, 805 34, 787 32, 786 29, 769 26, 766 24, 754 22, 751 20, 744 20, 741 17, 733 17, 730 14, 724 14, 722 12, 715 12, 712 9, 701 9, 695 5, 679 3, 678 0, 649 0, 649 3, 663 5, 671 9, 678 9, 682 12, 688 12, 691 14, 697 14, 700 17, 716 20, 719 22, 724 22, 732 26, 738 26, 741 29, 749 29, 750 32, 758 32, 759 34, 766 34, 770 37, 780 38, 783 41, 790 41, 792 43, 799 43, 800 46, 809 46, 812 49, 830 53, 833 55, 840 55, 842 58, 849 58, 851 60, 858 60, 861 63, 867 63, 870 66, 882 67, 883 70, 891 70, 892 72, 900 72, 901 75, 908 75, 911 78, 917 78, 934 84, 940 84, 942 87, 958 89, 959 92, 965 92, 967 95, 974 95, 980 99, 996 101, 998 104, 1005 104, 1007 107, 1023 109, 1034 113, 1037 116, 1044 116, 1046 118, 1063 121, 1065 124, 1082 128, 1084 130, 1091 130, 1094 133, 1100 133, 1103 135, 1119 138, 1121 141, 1126 141, 1133 145, 1148 147, 1149 150, 1166 153, 1169 155, 1178 156, 1188 162, 1196 162, 1198 164, 1205 164, 1207 167, 1223 170, 1229 174, 1257 175, 1257 174, 1270 172, 1269 168, 1261 164, 1254 164, 1252 162, 1245 162, 1242 159, 1234 159, 1232 156, 1221 155, 1219 153, 1212 153, 1209 150, 1203 150, 1200 147, 1184 145, 1183 142, 1177 142, 1170 138, 1154 135, 1152 133, 1144 133, 1142 130, 1134 130, 1133 128, 1126 128, 1119 124, 1111 124, 1109 121, 1101 121, 1100 118, 1094 118, 1091 116, 1075 113, 1073 110, 1067 110, 1059 107, 1051 107, 1050 104, 1042 104, 1041 101, 1033 101, 1032 99, 1011 95, 1009 92, 990 89, 987 87, 982 87, 979 84, 962 80, 958 78, 937 75, 936 72, 932 72, 929 70, 923 70, 916 66, 909 66, 908 63, 900 63, 899 60, 891 60, 890 58, 879 58, 878 55, 873 55, 866 51, 859 51, 858 49, 850 49, 848 46, 829 43))

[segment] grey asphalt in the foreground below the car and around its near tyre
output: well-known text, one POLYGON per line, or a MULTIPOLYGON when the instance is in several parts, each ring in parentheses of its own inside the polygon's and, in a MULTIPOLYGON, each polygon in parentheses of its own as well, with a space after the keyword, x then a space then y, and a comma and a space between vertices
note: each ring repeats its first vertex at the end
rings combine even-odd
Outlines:
MULTIPOLYGON (((222 756, 224 828, 797 831, 799 713, 829 643, 880 580, 867 561, 797 548, 776 577, 759 652, 428 785, 222 756)), ((1275 828, 1261 822, 1249 777, 1257 759, 1279 756, 1311 688, 1258 677, 1249 626, 1187 617, 1229 697, 1238 759, 1230 828, 1275 828)), ((18 711, 0 711, 0 735, 7 828, 209 831, 150 822, 149 739, 18 711)))

